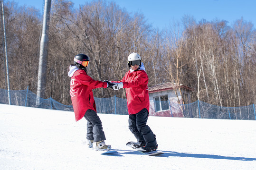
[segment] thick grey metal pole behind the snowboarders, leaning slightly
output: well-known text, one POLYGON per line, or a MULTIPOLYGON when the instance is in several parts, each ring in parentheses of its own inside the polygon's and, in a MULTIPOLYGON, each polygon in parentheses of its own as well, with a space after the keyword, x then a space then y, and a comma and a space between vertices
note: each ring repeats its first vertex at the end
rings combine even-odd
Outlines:
POLYGON ((42 29, 42 36, 41 36, 41 42, 40 42, 40 54, 39 54, 40 56, 39 56, 39 65, 38 65, 37 106, 41 103, 40 99, 45 98, 50 11, 51 11, 51 0, 45 0, 43 29, 42 29))

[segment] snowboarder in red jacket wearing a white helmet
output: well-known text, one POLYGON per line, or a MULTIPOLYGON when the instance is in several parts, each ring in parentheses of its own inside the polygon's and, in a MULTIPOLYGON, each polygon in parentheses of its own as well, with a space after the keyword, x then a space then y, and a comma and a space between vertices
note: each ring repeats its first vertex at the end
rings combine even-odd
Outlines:
POLYGON ((145 72, 141 56, 132 53, 128 56, 128 66, 130 70, 125 73, 121 81, 109 81, 116 83, 114 90, 125 88, 127 107, 129 112, 129 129, 136 137, 137 142, 132 144, 133 148, 142 148, 143 152, 156 151, 158 144, 156 137, 148 125, 149 116, 149 89, 148 75, 145 72))

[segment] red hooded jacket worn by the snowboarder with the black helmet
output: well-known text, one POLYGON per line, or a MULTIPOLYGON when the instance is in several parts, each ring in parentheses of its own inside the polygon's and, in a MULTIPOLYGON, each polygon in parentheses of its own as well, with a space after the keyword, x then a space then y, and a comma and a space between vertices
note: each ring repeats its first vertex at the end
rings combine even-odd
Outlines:
POLYGON ((84 70, 81 69, 75 70, 75 72, 71 73, 69 76, 71 76, 70 96, 76 121, 78 121, 85 116, 85 112, 88 109, 96 111, 92 89, 99 87, 106 88, 107 83, 92 79, 84 70))

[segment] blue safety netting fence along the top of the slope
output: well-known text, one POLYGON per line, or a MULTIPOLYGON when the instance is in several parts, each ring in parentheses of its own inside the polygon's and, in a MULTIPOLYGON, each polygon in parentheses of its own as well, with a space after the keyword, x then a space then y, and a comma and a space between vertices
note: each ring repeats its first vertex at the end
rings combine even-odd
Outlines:
MULTIPOLYGON (((9 104, 8 91, 0 89, 0 103, 9 104)), ((37 107, 44 109, 74 111, 72 105, 64 105, 52 99, 40 98, 37 105, 37 95, 30 90, 10 90, 12 105, 37 107)), ((95 97, 96 109, 98 113, 123 114, 127 115, 126 99, 118 97, 97 98, 95 97)), ((171 104, 171 103, 169 103, 171 104)), ((170 107, 171 108, 171 107, 170 107)), ((196 101, 182 105, 183 116, 185 118, 204 118, 204 119, 242 119, 255 120, 254 104, 243 107, 221 107, 206 102, 196 101)))

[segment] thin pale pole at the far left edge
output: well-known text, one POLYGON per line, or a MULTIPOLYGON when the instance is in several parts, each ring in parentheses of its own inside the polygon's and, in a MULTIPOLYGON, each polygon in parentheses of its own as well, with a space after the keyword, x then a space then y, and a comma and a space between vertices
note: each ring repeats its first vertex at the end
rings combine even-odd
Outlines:
POLYGON ((5 22, 4 22, 4 8, 3 8, 3 0, 1 0, 2 4, 2 21, 3 21, 3 32, 4 32, 4 49, 5 49, 5 61, 6 61, 6 74, 7 74, 7 90, 8 90, 8 101, 10 101, 10 83, 9 83, 9 66, 8 66, 8 55, 7 55, 7 45, 6 45, 6 32, 5 32, 5 22))

